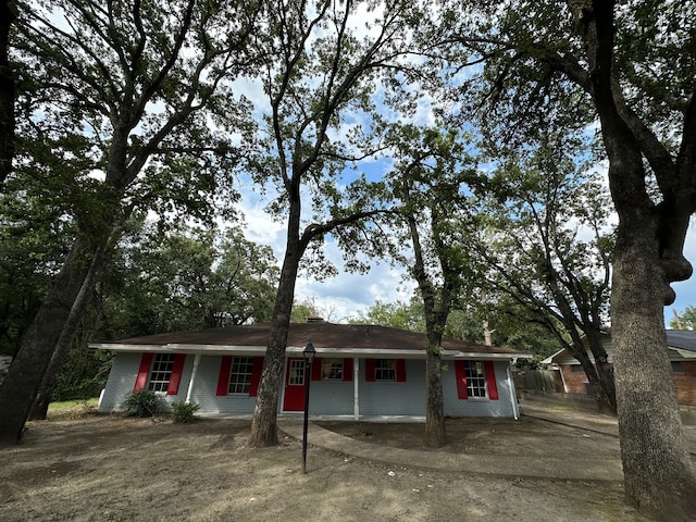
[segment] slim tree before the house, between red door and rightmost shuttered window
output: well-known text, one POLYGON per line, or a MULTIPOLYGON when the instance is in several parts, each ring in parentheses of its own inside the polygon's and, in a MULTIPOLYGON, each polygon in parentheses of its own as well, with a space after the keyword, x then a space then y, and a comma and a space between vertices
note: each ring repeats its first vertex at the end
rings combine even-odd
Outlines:
POLYGON ((478 175, 467 139, 447 128, 395 125, 387 134, 394 153, 388 187, 401 203, 410 245, 409 274, 418 283, 425 320, 425 443, 446 442, 442 340, 452 304, 467 283, 469 257, 458 240, 457 216, 468 212, 467 191, 478 175))

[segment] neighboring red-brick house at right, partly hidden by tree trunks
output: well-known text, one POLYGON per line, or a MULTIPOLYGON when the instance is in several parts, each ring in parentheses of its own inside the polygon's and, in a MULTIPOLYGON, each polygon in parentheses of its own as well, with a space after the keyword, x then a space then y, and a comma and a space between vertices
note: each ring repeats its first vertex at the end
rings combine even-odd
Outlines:
MULTIPOLYGON (((687 330, 668 330, 667 343, 672 363, 672 376, 680 405, 696 406, 696 332, 687 330)), ((613 360, 611 336, 606 335, 604 346, 609 362, 613 360)), ((589 359, 594 358, 587 349, 589 359)), ((560 350, 542 361, 560 372, 563 389, 567 394, 592 395, 587 376, 580 362, 568 351, 560 350)))

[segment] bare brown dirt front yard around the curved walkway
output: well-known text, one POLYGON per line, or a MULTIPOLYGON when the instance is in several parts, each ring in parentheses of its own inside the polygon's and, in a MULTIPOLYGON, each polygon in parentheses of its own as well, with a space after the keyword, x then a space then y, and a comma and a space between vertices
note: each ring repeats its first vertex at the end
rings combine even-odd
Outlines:
MULTIPOLYGON (((395 467, 388 447, 422 448, 422 424, 321 423, 383 446, 374 459, 300 442, 250 449, 248 421, 86 414, 34 422, 0 450, 0 521, 645 521, 619 482, 395 467)), ((618 458, 616 437, 523 418, 451 420, 437 451, 618 458)))

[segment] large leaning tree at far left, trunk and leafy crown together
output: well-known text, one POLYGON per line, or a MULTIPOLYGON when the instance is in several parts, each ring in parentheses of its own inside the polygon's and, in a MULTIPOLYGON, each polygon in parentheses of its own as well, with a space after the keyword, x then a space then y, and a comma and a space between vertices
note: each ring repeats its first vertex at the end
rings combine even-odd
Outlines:
POLYGON ((250 65, 259 9, 198 0, 18 4, 16 175, 62 198, 76 233, 0 386, 2 444, 20 439, 51 359, 60 368, 134 210, 203 213, 211 191, 223 189, 239 156, 233 139, 248 121, 226 82, 250 65))

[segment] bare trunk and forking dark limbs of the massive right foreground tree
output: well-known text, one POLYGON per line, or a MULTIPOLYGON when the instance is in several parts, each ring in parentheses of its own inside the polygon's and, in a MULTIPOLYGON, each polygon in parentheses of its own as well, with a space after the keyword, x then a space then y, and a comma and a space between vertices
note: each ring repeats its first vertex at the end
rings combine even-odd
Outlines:
POLYGON ((571 7, 586 44, 592 95, 619 214, 611 322, 625 496, 661 520, 694 520, 696 470, 684 443, 664 349, 663 306, 674 299, 670 283, 692 275, 683 247, 696 210, 696 101, 692 94, 683 145, 674 161, 623 105, 613 69, 614 2, 571 2, 571 7), (658 206, 646 190, 644 157, 660 187, 658 206))

